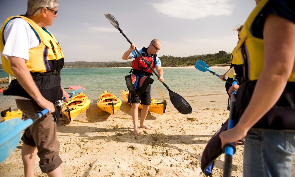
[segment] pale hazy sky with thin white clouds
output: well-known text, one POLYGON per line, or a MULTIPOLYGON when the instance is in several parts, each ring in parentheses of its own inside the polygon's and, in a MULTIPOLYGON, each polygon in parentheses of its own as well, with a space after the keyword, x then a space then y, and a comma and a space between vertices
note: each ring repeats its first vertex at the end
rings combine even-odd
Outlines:
MULTIPOLYGON (((254 0, 59 0, 57 17, 47 29, 60 42, 65 62, 125 61, 130 44, 105 13, 117 19, 138 48, 159 39, 159 57, 231 53, 237 44, 232 29, 255 6, 254 0)), ((26 11, 27 0, 1 0, 0 22, 26 11)))

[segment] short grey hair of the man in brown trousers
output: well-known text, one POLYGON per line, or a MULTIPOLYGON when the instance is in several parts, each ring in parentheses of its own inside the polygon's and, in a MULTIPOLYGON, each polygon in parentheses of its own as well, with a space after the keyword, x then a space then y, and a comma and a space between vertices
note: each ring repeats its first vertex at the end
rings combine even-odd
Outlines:
POLYGON ((27 16, 40 12, 43 7, 53 9, 58 6, 58 0, 28 0, 27 16))

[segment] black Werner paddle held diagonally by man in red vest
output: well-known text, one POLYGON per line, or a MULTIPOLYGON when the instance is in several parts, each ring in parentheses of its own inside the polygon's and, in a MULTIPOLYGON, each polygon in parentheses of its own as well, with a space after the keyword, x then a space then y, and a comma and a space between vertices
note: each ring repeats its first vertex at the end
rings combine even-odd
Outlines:
MULTIPOLYGON (((127 38, 127 36, 123 33, 123 31, 120 29, 119 27, 119 23, 117 21, 117 19, 112 16, 109 13, 105 13, 104 16, 106 16, 106 18, 111 22, 111 24, 117 28, 117 30, 119 30, 120 33, 122 33, 122 35, 125 37, 125 39, 130 43, 130 45, 132 45, 132 42, 127 38)), ((157 76, 157 78, 160 78, 158 76, 158 74, 155 72, 155 70, 151 67, 151 65, 149 64, 149 62, 147 60, 145 60, 145 58, 143 58, 143 56, 141 55, 141 53, 139 53, 139 51, 137 50, 137 48, 135 48, 136 52, 138 53, 138 55, 140 55, 140 57, 142 58, 142 60, 145 61, 145 63, 148 65, 148 67, 153 71, 153 73, 157 76)), ((180 112, 181 114, 191 114, 193 112, 191 105, 189 105, 189 102, 187 102, 182 96, 176 94, 175 92, 171 91, 169 89, 169 87, 162 82, 163 85, 166 87, 166 89, 169 91, 169 95, 170 95, 170 101, 173 104, 173 106, 177 109, 178 112, 180 112)))

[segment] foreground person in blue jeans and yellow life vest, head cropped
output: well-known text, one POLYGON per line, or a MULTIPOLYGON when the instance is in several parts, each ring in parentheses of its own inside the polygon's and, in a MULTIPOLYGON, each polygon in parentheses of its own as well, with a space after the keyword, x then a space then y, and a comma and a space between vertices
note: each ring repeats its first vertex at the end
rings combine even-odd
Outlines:
POLYGON ((243 176, 294 176, 295 1, 256 4, 233 60, 241 80, 236 124, 219 137, 222 147, 245 137, 243 176))

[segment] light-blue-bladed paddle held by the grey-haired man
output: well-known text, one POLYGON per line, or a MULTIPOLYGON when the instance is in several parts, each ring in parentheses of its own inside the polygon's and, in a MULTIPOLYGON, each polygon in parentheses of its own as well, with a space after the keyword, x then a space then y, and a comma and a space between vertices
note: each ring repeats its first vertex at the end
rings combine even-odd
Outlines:
MULTIPOLYGON (((69 97, 72 97, 73 94, 79 91, 82 91, 82 89, 69 93, 69 97)), ((54 107, 61 105, 63 101, 65 101, 65 98, 56 101, 53 104, 54 107)), ((21 132, 32 125, 34 121, 42 118, 47 113, 48 109, 44 109, 41 112, 36 112, 33 118, 27 119, 25 121, 17 118, 0 122, 0 163, 13 153, 19 143, 21 132)))

